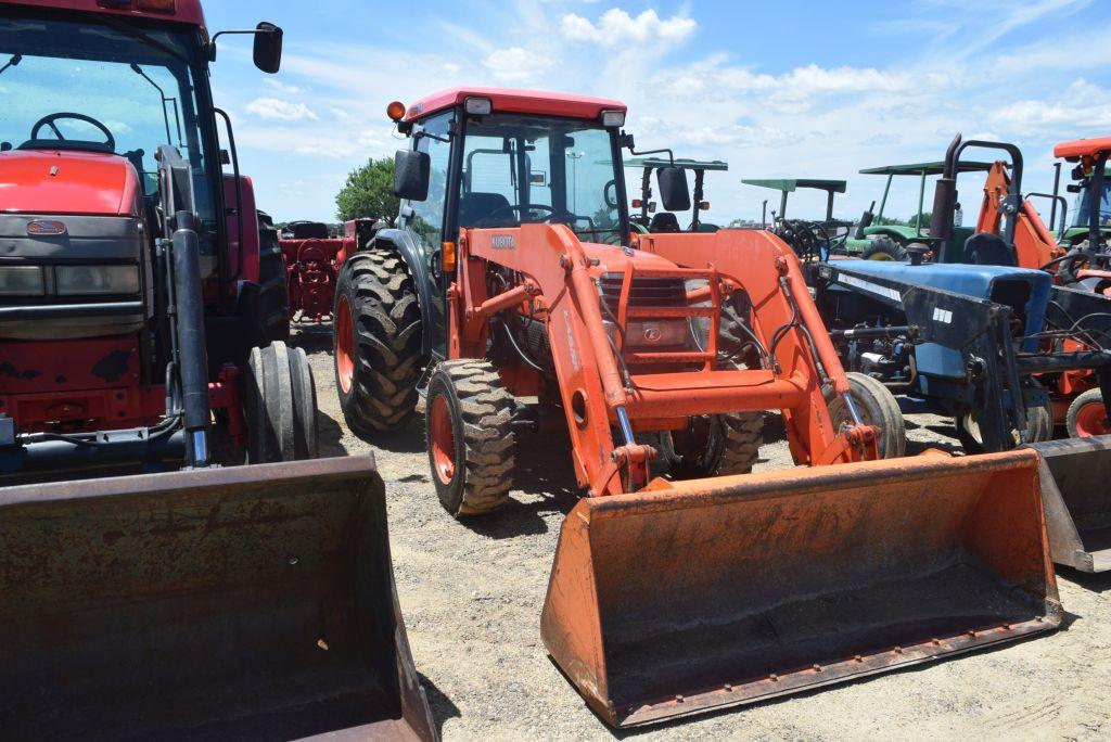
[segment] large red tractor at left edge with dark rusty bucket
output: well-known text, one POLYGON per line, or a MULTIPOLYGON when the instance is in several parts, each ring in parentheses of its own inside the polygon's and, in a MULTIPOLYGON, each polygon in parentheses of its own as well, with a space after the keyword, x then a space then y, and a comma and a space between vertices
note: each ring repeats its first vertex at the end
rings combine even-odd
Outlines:
POLYGON ((216 38, 197 0, 0 3, 0 736, 431 740, 381 478, 313 460, 270 342, 216 38))

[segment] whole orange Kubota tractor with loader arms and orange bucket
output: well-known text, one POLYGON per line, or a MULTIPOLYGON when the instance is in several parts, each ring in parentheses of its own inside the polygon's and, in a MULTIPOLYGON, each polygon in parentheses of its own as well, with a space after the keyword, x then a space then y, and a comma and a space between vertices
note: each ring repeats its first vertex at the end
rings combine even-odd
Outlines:
MULTIPOLYGON (((423 395, 459 518, 508 499, 529 408, 565 421, 588 497, 562 525, 542 636, 607 722, 1060 623, 1037 454, 879 460, 898 409, 842 371, 783 242, 630 233, 622 103, 474 88, 389 113, 411 148, 397 229, 339 279, 344 414, 381 434, 423 395), (767 410, 800 468, 748 474, 767 410)), ((664 209, 690 209, 680 168, 658 180, 664 209)))

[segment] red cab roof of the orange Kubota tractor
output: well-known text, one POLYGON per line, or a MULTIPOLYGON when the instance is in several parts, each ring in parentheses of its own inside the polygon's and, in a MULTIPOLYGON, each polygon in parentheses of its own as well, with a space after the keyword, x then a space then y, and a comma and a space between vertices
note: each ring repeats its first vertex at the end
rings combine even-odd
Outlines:
POLYGON ((619 100, 590 98, 544 90, 514 90, 511 88, 450 88, 423 98, 406 111, 406 121, 421 119, 432 113, 461 106, 468 98, 489 98, 496 113, 532 113, 561 116, 569 119, 597 119, 602 111, 627 111, 619 100))

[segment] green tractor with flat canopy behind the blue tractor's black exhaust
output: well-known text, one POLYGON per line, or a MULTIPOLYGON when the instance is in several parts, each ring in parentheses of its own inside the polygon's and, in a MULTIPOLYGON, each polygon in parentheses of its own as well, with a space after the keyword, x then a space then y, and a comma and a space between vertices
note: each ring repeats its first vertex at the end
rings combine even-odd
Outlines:
MULTIPOLYGON (((991 170, 990 162, 961 162, 960 172, 988 172, 991 170)), ((944 162, 919 162, 914 164, 891 164, 882 168, 868 168, 861 170, 862 176, 887 176, 888 182, 883 188, 883 198, 880 201, 880 210, 872 212, 875 202, 864 212, 852 237, 847 241, 845 248, 850 254, 859 255, 865 260, 893 260, 902 262, 908 258, 908 247, 918 242, 925 242, 929 238, 930 223, 928 219, 922 219, 925 204, 927 178, 940 176, 945 168, 944 162), (891 223, 892 220, 883 215, 888 205, 888 197, 891 194, 891 184, 897 177, 918 178, 918 215, 910 224, 891 223), (888 222, 888 223, 884 223, 888 222)), ((958 210, 960 204, 958 204, 958 210)), ((964 262, 964 241, 972 237, 974 231, 970 227, 953 227, 953 234, 945 243, 945 262, 964 262)))

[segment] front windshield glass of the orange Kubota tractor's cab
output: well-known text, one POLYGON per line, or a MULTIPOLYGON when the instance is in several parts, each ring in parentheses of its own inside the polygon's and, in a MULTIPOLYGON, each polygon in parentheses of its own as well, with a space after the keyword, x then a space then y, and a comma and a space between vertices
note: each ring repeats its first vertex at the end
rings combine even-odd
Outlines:
POLYGON ((459 225, 560 223, 582 240, 625 230, 612 132, 593 121, 493 114, 467 126, 459 225))

